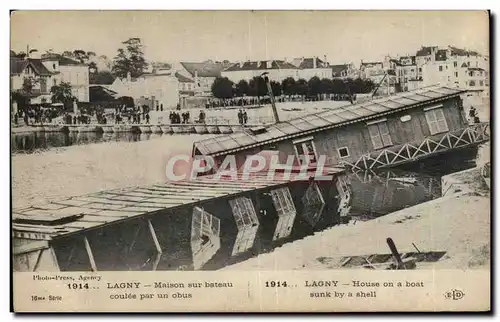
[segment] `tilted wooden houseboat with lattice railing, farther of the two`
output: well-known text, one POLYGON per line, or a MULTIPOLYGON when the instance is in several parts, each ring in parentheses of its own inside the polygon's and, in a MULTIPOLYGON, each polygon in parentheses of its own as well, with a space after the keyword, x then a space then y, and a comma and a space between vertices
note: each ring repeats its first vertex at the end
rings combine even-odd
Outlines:
POLYGON ((489 139, 488 123, 469 125, 465 90, 430 86, 368 102, 327 109, 289 121, 195 142, 193 156, 211 156, 214 169, 227 155, 243 164, 249 155, 277 150, 314 165, 375 169, 474 147, 489 139), (304 156, 311 156, 307 159, 304 156))

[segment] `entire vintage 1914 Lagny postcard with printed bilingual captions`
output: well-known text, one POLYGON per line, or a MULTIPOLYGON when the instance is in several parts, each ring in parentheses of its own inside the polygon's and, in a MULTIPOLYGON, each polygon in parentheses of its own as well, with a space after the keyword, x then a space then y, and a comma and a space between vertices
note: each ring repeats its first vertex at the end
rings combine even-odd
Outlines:
POLYGON ((13 11, 14 311, 489 311, 489 23, 13 11))

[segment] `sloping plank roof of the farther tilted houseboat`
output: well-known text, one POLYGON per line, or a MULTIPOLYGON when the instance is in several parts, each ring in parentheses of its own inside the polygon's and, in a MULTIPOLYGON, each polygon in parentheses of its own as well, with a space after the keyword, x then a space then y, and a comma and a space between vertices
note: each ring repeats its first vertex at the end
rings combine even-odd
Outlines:
POLYGON ((254 135, 249 132, 239 132, 204 139, 193 144, 193 153, 196 154, 199 152, 204 155, 213 156, 227 155, 264 144, 377 118, 404 109, 415 108, 423 104, 456 96, 463 92, 465 91, 461 89, 441 86, 430 86, 411 92, 402 92, 389 97, 347 105, 273 124, 260 134, 254 135))

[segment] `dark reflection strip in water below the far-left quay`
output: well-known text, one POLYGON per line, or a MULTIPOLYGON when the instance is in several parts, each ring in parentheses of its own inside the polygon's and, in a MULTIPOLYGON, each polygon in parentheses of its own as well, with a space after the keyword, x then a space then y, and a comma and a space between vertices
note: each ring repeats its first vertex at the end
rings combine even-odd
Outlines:
POLYGON ((60 148, 72 145, 84 145, 101 142, 136 142, 145 141, 171 134, 153 134, 153 133, 62 133, 62 132, 34 132, 11 134, 12 153, 33 153, 52 148, 60 148))

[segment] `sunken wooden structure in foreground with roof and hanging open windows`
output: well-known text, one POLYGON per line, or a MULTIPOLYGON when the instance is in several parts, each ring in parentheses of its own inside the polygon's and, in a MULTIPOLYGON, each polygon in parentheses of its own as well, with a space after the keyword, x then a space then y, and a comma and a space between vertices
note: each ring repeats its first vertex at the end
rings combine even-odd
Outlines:
POLYGON ((205 177, 14 209, 14 271, 218 269, 340 221, 346 185, 205 177))

